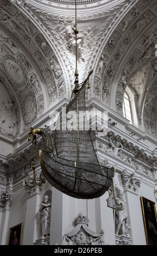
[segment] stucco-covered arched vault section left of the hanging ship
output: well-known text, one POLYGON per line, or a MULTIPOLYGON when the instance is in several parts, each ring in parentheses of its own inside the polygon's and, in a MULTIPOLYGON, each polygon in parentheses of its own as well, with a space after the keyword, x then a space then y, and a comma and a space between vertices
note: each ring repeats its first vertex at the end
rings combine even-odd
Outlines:
MULTIPOLYGON (((38 27, 18 9, 18 4, 2 1, 0 8, 0 75, 16 114, 16 120, 11 121, 15 135, 30 127, 51 103, 66 95, 66 90, 58 92, 64 84, 62 70, 38 27)), ((9 135, 4 103, 6 106, 8 102, 0 102, 1 132, 9 135)))

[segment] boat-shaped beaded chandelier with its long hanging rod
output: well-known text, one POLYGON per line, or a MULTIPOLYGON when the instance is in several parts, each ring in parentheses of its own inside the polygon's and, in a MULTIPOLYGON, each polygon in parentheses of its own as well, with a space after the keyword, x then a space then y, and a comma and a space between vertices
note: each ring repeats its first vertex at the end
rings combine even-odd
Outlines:
MULTIPOLYGON (((76 17, 76 0, 75 0, 76 17)), ((109 192, 107 199, 108 206, 114 209, 121 209, 116 203, 114 195, 114 167, 101 166, 91 141, 90 131, 86 118, 86 89, 89 88, 89 73, 87 79, 78 84, 77 71, 77 28, 76 35, 76 69, 74 90, 69 104, 66 107, 66 114, 75 112, 73 124, 75 129, 62 129, 62 115, 56 121, 56 129, 53 138, 47 129, 31 128, 29 132, 33 145, 37 144, 36 135, 44 139, 44 148, 40 149, 40 163, 45 179, 68 196, 92 199, 109 192), (80 114, 82 113, 82 114, 80 114), (83 129, 79 129, 83 127, 83 129)), ((39 147, 39 145, 38 145, 39 147)), ((40 147, 39 147, 40 148, 40 147)), ((26 182, 26 185, 29 184, 26 182)), ((43 185, 43 182, 41 184, 43 185)))

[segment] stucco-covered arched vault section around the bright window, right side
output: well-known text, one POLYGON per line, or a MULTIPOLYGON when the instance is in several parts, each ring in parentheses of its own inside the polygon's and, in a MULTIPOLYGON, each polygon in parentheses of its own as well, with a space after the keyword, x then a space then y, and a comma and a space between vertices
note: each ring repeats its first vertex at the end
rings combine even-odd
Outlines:
POLYGON ((155 1, 137 1, 104 41, 94 89, 99 100, 121 114, 124 91, 132 89, 139 126, 155 136, 156 7, 155 1))

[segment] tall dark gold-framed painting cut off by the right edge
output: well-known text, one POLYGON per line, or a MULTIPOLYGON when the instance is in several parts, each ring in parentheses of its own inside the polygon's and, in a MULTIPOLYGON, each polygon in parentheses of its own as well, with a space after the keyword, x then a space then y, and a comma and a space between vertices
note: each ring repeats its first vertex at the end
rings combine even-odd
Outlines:
POLYGON ((141 197, 141 204, 147 245, 157 245, 156 204, 145 197, 141 197))

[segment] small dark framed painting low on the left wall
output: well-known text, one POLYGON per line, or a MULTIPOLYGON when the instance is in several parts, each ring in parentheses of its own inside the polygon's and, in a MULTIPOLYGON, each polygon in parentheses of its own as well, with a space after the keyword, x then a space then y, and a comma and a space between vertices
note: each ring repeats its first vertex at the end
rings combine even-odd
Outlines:
POLYGON ((9 229, 8 245, 21 245, 23 223, 9 229))

